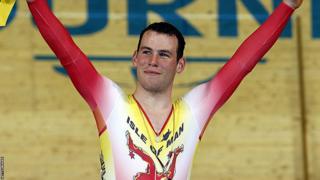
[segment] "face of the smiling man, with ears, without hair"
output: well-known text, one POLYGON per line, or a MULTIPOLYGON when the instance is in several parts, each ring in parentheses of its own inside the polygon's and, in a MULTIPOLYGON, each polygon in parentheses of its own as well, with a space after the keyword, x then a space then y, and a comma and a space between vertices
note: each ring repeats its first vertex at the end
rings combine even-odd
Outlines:
POLYGON ((182 72, 185 65, 183 58, 177 61, 177 48, 178 40, 175 36, 146 31, 133 56, 138 85, 151 92, 172 88, 175 74, 182 72))

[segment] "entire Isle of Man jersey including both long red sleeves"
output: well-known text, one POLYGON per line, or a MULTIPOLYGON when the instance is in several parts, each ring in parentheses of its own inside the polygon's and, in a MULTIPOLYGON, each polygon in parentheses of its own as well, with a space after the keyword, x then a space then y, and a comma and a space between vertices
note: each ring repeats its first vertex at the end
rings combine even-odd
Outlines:
POLYGON ((94 113, 104 179, 189 178, 196 146, 213 114, 272 47, 293 9, 284 3, 247 38, 210 81, 173 103, 160 132, 133 96, 101 76, 52 14, 45 0, 29 3, 40 33, 94 113))

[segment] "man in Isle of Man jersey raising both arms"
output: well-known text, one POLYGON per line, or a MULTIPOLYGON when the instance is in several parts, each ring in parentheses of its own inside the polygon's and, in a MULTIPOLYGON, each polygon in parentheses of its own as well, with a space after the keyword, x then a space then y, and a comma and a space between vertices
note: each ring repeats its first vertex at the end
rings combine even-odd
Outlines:
POLYGON ((140 35, 132 62, 138 81, 126 96, 96 72, 45 0, 27 0, 39 30, 96 119, 102 178, 188 179, 195 147, 213 114, 271 48, 302 0, 284 0, 207 83, 171 101, 176 73, 185 67, 184 39, 171 24, 154 23, 140 35))

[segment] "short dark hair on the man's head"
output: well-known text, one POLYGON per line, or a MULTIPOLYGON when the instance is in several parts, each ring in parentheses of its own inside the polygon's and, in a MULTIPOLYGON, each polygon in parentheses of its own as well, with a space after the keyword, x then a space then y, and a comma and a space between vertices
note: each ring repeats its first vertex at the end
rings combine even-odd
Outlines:
POLYGON ((158 33, 167 34, 169 36, 175 36, 178 39, 177 60, 179 60, 181 57, 183 57, 183 51, 184 51, 184 47, 186 44, 186 42, 184 41, 184 37, 183 37, 182 33, 174 25, 172 25, 168 22, 152 23, 148 27, 143 29, 140 33, 137 50, 139 50, 139 47, 141 44, 141 39, 142 39, 144 33, 149 30, 155 31, 158 33))

